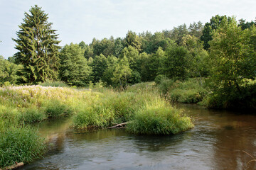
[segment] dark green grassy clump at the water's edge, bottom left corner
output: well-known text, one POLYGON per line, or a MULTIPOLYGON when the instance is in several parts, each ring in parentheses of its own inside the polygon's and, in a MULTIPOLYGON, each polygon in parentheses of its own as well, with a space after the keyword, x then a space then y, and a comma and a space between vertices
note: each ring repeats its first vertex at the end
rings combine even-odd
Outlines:
POLYGON ((38 132, 28 127, 6 128, 0 132, 0 167, 10 166, 14 162, 30 163, 42 157, 46 145, 38 132))

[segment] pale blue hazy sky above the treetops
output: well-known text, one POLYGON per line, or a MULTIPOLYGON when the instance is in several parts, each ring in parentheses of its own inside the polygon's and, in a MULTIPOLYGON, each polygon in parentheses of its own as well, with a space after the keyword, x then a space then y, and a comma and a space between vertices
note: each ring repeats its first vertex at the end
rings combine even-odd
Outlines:
POLYGON ((186 23, 206 23, 215 15, 255 21, 255 0, 0 0, 0 55, 13 56, 18 26, 31 6, 42 7, 59 34, 60 45, 92 38, 124 38, 128 30, 151 33, 186 23))

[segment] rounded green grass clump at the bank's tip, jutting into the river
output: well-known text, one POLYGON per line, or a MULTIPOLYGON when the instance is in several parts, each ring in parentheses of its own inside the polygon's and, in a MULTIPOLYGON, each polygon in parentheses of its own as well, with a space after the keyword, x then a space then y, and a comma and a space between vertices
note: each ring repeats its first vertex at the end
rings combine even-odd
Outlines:
POLYGON ((170 135, 193 128, 190 118, 170 106, 149 106, 135 113, 127 130, 135 134, 170 135))

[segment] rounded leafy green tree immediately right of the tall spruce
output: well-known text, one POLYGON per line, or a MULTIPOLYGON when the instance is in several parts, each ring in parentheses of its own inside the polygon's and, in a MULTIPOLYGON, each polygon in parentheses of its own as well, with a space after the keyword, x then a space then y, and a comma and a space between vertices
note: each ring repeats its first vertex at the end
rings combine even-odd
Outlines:
POLYGON ((83 57, 84 50, 71 43, 60 51, 60 79, 70 85, 85 86, 90 81, 91 68, 83 57))

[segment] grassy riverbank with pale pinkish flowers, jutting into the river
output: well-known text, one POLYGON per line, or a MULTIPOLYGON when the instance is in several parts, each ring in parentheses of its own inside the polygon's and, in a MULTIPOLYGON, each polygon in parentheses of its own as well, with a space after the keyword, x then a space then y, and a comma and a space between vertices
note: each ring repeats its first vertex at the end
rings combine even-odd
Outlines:
POLYGON ((152 84, 137 84, 121 92, 9 86, 1 88, 0 96, 1 167, 41 157, 46 146, 28 125, 49 118, 73 116, 73 128, 78 130, 129 122, 127 130, 135 134, 169 135, 193 128, 191 118, 170 106, 152 84))

